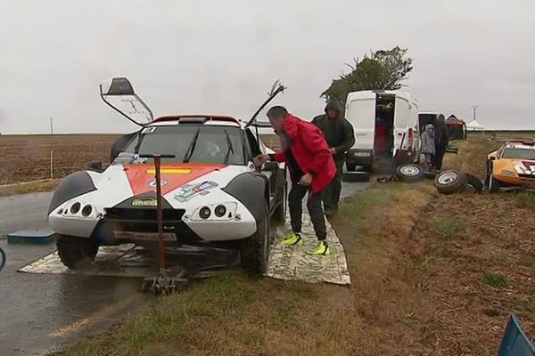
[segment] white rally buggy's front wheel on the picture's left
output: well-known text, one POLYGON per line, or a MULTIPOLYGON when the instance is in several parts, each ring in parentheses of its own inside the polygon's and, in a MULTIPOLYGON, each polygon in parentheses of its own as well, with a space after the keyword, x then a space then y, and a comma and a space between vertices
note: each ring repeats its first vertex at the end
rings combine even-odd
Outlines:
POLYGON ((93 262, 98 252, 98 245, 93 240, 67 235, 59 235, 56 247, 62 263, 71 270, 93 262))

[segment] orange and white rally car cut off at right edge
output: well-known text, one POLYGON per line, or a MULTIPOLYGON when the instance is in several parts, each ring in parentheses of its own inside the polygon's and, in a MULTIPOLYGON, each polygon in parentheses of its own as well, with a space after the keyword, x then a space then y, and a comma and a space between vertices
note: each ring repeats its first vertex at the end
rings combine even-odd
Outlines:
POLYGON ((491 152, 485 183, 491 193, 502 187, 535 188, 535 140, 509 141, 491 152))

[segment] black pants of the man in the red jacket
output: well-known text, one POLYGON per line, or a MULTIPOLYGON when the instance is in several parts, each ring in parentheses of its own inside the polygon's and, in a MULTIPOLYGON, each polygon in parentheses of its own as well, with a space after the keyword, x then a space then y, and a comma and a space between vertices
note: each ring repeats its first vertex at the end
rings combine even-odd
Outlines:
POLYGON ((288 194, 288 206, 290 207, 292 231, 295 233, 300 233, 301 231, 303 198, 305 198, 307 193, 309 193, 307 207, 309 208, 310 220, 314 226, 317 239, 324 240, 327 237, 327 228, 325 227, 325 216, 321 206, 323 191, 312 193, 310 187, 297 183, 292 184, 292 190, 290 190, 290 194, 288 194))

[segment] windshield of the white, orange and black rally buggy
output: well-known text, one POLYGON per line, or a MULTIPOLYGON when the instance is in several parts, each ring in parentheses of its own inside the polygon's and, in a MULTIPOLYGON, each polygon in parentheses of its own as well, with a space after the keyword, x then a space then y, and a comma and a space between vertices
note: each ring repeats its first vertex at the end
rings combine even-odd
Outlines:
MULTIPOLYGON (((123 151, 135 153, 137 142, 136 137, 123 151)), ((243 132, 237 127, 169 125, 145 128, 138 153, 175 155, 164 162, 244 165, 243 147, 243 132)))

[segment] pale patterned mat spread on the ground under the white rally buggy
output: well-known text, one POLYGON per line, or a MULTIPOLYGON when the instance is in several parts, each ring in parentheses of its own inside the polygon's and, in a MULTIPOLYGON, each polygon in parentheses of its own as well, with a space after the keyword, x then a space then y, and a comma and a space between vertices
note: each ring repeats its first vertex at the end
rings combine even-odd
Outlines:
MULTIPOLYGON (((317 239, 308 214, 303 214, 303 237, 300 247, 284 247, 280 240, 292 231, 289 223, 273 231, 276 243, 271 247, 266 275, 275 279, 295 279, 307 282, 350 284, 350 273, 340 239, 327 223, 327 241, 331 255, 307 255, 316 246, 317 239)), ((184 267, 189 278, 210 277, 239 263, 235 250, 213 247, 168 248, 168 268, 172 271, 184 267)), ((80 271, 71 271, 63 265, 57 252, 22 267, 19 271, 40 274, 83 274, 90 276, 151 277, 157 271, 157 263, 143 247, 133 244, 100 247, 95 262, 80 271)))

